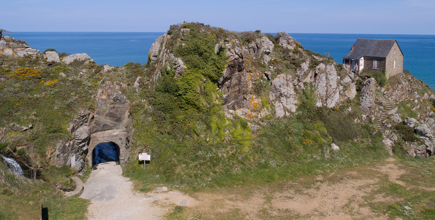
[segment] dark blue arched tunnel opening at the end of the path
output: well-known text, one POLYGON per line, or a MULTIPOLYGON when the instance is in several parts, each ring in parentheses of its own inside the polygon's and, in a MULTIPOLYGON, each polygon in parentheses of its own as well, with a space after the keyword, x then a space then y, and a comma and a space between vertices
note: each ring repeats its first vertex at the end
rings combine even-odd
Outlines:
POLYGON ((119 146, 114 142, 99 143, 92 150, 92 167, 103 162, 117 162, 119 164, 119 146))

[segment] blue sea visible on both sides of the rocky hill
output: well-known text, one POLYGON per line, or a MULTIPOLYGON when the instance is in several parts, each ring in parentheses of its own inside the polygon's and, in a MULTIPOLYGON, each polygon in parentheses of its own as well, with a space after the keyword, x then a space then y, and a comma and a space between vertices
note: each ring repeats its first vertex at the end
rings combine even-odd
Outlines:
MULTIPOLYGON (((97 64, 144 64, 154 40, 164 32, 16 32, 3 35, 26 41, 30 47, 70 54, 86 53, 97 64)), ((275 35, 276 33, 270 33, 275 35)), ((403 68, 435 89, 435 35, 303 34, 289 33, 305 49, 333 57, 339 64, 357 38, 396 39, 404 54, 403 68)))

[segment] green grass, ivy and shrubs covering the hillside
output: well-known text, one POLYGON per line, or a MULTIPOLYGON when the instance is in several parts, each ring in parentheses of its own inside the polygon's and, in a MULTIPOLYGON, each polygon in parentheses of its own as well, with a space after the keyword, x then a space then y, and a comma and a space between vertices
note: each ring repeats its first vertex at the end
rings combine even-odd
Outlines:
MULTIPOLYGON (((54 188, 59 184, 63 190, 71 190, 70 178, 76 175, 75 170, 67 166, 49 166, 46 154, 54 152, 60 139, 72 138, 67 132, 68 122, 79 108, 94 112, 95 101, 91 96, 104 81, 120 81, 127 85, 120 89, 131 101, 135 132, 132 155, 123 167, 123 175, 130 177, 135 187, 143 192, 161 184, 187 192, 270 184, 375 163, 388 156, 382 146, 382 133, 376 131, 375 125, 370 120, 355 123, 362 114, 358 98, 342 102, 335 108, 319 108, 316 105, 318 91, 313 83, 305 82, 304 89, 298 89, 297 109, 284 118, 267 115, 254 121, 225 114, 222 102, 226 94, 218 89, 218 81, 228 64, 227 51, 224 47, 215 51, 221 40, 228 38, 229 41, 225 40, 228 44, 246 46, 266 36, 275 45, 273 59, 268 63, 273 70, 261 59, 245 60, 252 75, 259 75, 249 85, 250 95, 255 95, 258 103, 261 102, 258 108, 251 109, 252 112, 274 112, 274 105, 268 98, 272 91, 269 80, 277 74, 296 77, 296 71, 311 56, 318 58, 310 58, 310 69, 320 63, 334 64, 338 75, 345 74, 342 65, 336 64, 333 58, 304 49, 299 43, 292 50, 282 48, 278 38, 260 30, 232 32, 200 23, 184 23, 171 25, 167 33, 171 38, 165 48, 181 58, 186 66, 183 71, 168 63, 154 66, 150 56, 145 65, 127 63, 103 72, 102 66, 84 61, 67 65, 48 63, 41 58, 0 55, 0 77, 6 79, 0 85, 0 127, 10 123, 34 127, 27 132, 8 132, 8 143, 1 143, 0 150, 14 153, 42 170, 40 180, 28 180, 11 176, 4 166, 0 166, 3 172, 0 173, 3 178, 0 179, 0 192, 3 192, 0 194, 0 219, 19 219, 21 215, 25 219, 35 218, 34 211, 30 210, 38 205, 38 190, 45 195, 44 203, 50 207, 50 217, 67 219, 69 214, 74 219, 85 218, 86 200, 77 197, 63 200, 62 193, 54 188), (190 31, 181 35, 184 28, 190 31), (266 73, 268 79, 262 78, 266 73), (157 81, 154 81, 155 74, 157 81), (131 87, 138 76, 141 77, 138 88, 131 87), (349 107, 352 111, 345 111, 349 107), (254 125, 261 125, 260 129, 251 130, 254 125), (332 151, 332 143, 341 150, 332 151), (17 150, 16 146, 24 145, 28 147, 17 150), (152 156, 146 169, 142 169, 143 165, 135 155, 142 150, 152 156), (10 208, 10 203, 28 204, 28 207, 10 208)), ((69 54, 59 55, 62 58, 69 54)), ((381 86, 387 83, 385 72, 367 73, 366 76, 376 78, 381 86)), ((400 106, 399 112, 402 117, 418 114, 411 105, 405 104, 400 106)), ((395 129, 403 141, 418 140, 414 131, 405 125, 397 125, 395 129)), ((396 143, 395 152, 403 141, 396 143)), ((83 178, 89 173, 88 169, 83 178)), ((428 200, 428 196, 424 198, 428 200)), ((395 212, 393 207, 388 209, 395 212)), ((176 206, 166 218, 182 218, 187 212, 188 208, 176 206)), ((231 217, 238 216, 240 209, 231 212, 231 217)), ((268 210, 262 213, 264 217, 271 215, 268 210)))

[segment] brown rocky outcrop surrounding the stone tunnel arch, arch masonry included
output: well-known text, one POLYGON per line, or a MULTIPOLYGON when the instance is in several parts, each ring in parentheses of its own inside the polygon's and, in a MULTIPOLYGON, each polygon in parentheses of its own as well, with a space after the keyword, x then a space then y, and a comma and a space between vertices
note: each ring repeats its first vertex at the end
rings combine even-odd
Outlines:
POLYGON ((128 160, 134 127, 129 112, 130 101, 119 91, 125 84, 106 81, 94 95, 97 103, 95 114, 80 109, 67 129, 72 139, 62 139, 56 145, 50 157, 55 166, 71 166, 75 156, 75 168, 78 172, 87 167, 92 160, 93 148, 101 142, 115 142, 120 148, 120 161, 128 160), (107 138, 106 138, 107 137, 107 138))

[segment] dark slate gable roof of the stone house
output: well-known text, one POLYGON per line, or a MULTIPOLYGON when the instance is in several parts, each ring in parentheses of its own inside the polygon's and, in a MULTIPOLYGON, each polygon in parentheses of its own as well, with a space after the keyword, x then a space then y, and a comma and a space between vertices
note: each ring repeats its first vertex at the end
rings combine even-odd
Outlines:
MULTIPOLYGON (((353 45, 353 50, 349 51, 343 59, 359 60, 364 56, 386 58, 395 42, 396 40, 358 38, 353 45)), ((400 52, 402 53, 402 50, 400 52)))

